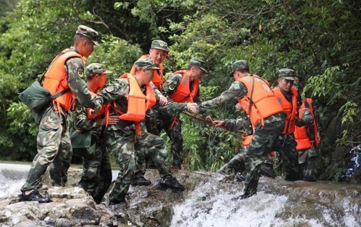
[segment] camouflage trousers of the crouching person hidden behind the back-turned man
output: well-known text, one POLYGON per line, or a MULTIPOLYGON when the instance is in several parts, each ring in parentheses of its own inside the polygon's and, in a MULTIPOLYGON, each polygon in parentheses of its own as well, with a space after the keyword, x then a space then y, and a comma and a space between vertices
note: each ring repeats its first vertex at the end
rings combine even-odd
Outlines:
MULTIPOLYGON (((245 171, 245 157, 248 147, 242 147, 237 155, 229 162, 225 163, 217 172, 221 174, 235 175, 245 171)), ((275 170, 273 168, 273 157, 267 155, 266 160, 261 164, 260 174, 266 177, 275 178, 275 170)))

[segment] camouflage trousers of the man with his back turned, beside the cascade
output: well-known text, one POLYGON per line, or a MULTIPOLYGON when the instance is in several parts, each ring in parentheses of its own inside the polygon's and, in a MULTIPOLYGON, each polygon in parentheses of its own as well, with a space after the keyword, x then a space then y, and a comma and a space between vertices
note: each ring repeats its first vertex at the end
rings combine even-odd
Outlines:
POLYGON ((257 192, 260 176, 260 167, 268 153, 277 151, 285 163, 286 180, 296 181, 299 179, 298 154, 296 141, 293 134, 281 136, 284 128, 283 121, 272 122, 265 126, 257 126, 249 150, 246 155, 246 187, 245 195, 253 195, 257 192))

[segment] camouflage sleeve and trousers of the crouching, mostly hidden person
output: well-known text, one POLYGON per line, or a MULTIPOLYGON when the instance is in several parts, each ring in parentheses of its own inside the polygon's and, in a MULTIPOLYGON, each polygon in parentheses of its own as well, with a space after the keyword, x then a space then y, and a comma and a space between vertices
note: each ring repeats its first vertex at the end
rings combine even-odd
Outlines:
MULTIPOLYGON (((252 134, 252 127, 250 126, 250 120, 248 118, 227 119, 224 120, 224 127, 230 131, 245 130, 246 134, 252 134)), ((248 146, 244 146, 239 150, 239 153, 235 155, 229 162, 225 163, 217 172, 221 174, 242 173, 245 171, 245 159, 248 151, 248 146)), ((273 157, 269 154, 267 159, 261 165, 261 175, 267 177, 275 177, 275 171, 273 169, 273 157)))

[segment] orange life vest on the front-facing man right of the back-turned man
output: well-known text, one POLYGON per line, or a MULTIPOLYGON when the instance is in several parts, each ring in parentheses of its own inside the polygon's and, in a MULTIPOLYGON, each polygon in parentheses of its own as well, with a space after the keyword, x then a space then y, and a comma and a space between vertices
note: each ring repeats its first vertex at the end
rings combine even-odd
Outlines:
POLYGON ((281 104, 283 111, 287 114, 286 123, 284 126, 284 130, 282 134, 290 134, 295 131, 296 126, 296 115, 298 109, 298 102, 297 102, 297 91, 294 87, 291 87, 292 93, 292 104, 284 97, 281 90, 278 87, 273 89, 275 96, 278 98, 279 104, 281 104))

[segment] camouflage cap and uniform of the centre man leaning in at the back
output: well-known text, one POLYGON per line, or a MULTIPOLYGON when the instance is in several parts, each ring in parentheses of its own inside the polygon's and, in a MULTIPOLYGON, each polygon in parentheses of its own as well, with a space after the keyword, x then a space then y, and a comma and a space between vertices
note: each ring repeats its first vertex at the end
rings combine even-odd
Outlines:
MULTIPOLYGON (((192 59, 190 62, 190 65, 194 65, 195 67, 201 68, 203 71, 207 72, 204 68, 205 62, 198 60, 198 59, 192 59)), ((182 81, 182 74, 176 73, 169 76, 167 81, 164 83, 162 91, 163 94, 171 99, 169 96, 173 94, 179 84, 182 81)), ((193 83, 194 81, 191 81, 189 83, 190 86, 190 92, 192 92, 193 89, 193 83)), ((201 100, 199 98, 199 90, 197 94, 194 97, 193 100, 195 103, 200 103, 201 100)), ((206 111, 201 111, 200 114, 203 117, 207 116, 206 111)), ((156 113, 156 125, 159 132, 162 130, 165 130, 168 137, 171 141, 171 153, 173 155, 173 165, 174 166, 180 166, 183 162, 183 137, 182 137, 182 122, 179 119, 179 116, 172 117, 169 115, 165 115, 163 113, 156 113), (175 120, 176 118, 176 120, 175 120)))

